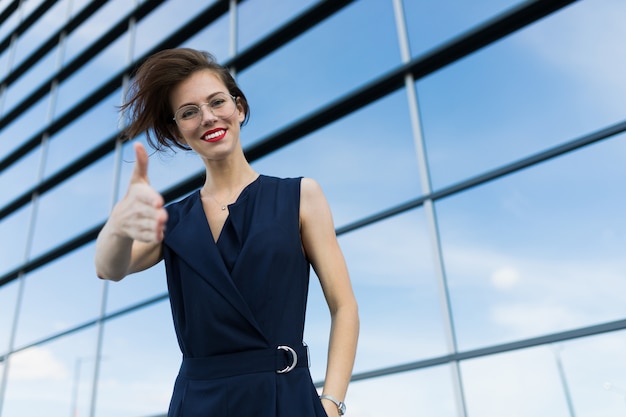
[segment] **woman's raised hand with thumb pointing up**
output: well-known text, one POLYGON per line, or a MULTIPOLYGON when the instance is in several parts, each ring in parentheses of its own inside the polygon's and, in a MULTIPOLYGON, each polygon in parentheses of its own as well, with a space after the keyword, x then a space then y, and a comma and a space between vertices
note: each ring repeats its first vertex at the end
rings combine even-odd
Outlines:
POLYGON ((136 162, 128 191, 115 206, 111 218, 122 236, 142 242, 161 242, 167 222, 161 194, 148 181, 148 153, 141 143, 135 143, 136 162))

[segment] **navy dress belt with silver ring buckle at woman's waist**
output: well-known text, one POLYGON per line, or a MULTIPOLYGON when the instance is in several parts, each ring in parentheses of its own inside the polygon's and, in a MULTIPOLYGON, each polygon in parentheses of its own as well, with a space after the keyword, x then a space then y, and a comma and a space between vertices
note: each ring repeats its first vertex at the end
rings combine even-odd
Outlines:
POLYGON ((257 372, 286 374, 308 366, 308 346, 280 345, 202 358, 184 357, 179 375, 187 379, 213 379, 257 372))

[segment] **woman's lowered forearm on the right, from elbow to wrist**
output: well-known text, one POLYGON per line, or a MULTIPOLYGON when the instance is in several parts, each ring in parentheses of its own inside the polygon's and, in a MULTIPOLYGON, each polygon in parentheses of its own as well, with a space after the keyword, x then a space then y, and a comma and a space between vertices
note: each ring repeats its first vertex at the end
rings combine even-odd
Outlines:
MULTIPOLYGON (((328 346, 328 364, 323 393, 343 401, 352 376, 359 335, 359 315, 356 302, 331 312, 331 331, 328 346)), ((337 407, 323 401, 329 416, 337 415, 337 407), (335 413, 335 414, 333 414, 335 413)))

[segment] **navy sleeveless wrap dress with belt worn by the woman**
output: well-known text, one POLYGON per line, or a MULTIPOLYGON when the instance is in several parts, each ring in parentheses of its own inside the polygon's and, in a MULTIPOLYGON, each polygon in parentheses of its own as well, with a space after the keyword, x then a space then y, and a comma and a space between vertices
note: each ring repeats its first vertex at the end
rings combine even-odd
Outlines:
POLYGON ((183 354, 168 417, 326 417, 303 343, 310 265, 300 178, 259 176, 214 241, 200 192, 167 207, 163 257, 183 354))

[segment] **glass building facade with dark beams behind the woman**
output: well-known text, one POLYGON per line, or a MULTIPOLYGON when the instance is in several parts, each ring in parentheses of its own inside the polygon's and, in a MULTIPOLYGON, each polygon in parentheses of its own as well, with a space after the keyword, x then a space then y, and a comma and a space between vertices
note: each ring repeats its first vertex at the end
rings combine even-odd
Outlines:
MULTIPOLYGON (((624 415, 625 21, 623 0, 0 0, 0 416, 167 412, 163 267, 108 283, 93 256, 133 167, 129 77, 178 46, 236 75, 253 167, 327 195, 361 314, 348 416, 624 415)), ((203 174, 150 157, 168 202, 203 174)), ((314 276, 307 320, 321 386, 314 276)))

